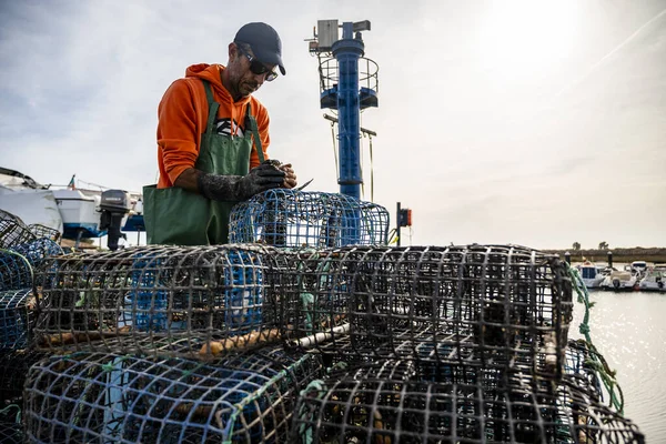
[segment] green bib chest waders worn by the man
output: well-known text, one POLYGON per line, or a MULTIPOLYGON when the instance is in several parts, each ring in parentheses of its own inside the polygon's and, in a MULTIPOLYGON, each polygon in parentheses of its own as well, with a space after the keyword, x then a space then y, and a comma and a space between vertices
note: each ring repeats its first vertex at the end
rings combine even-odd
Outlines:
MULTIPOLYGON (((220 103, 213 99, 208 81, 203 81, 209 104, 205 132, 194 168, 220 175, 245 175, 250 171, 252 135, 259 160, 264 161, 256 121, 250 104, 243 137, 218 134, 215 118, 220 103)), ((149 244, 208 245, 229 241, 229 215, 236 202, 211 201, 201 194, 172 186, 143 186, 143 219, 149 244)))

